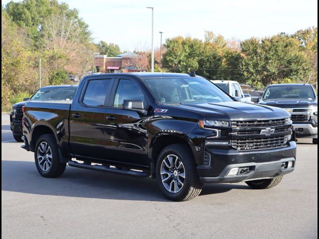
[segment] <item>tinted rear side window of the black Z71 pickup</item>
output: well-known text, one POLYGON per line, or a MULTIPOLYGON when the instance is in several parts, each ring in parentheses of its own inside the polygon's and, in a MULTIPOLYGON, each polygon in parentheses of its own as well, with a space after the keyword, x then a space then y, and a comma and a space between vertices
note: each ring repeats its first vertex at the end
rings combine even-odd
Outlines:
POLYGON ((88 106, 104 106, 111 79, 91 80, 86 88, 83 103, 88 106))

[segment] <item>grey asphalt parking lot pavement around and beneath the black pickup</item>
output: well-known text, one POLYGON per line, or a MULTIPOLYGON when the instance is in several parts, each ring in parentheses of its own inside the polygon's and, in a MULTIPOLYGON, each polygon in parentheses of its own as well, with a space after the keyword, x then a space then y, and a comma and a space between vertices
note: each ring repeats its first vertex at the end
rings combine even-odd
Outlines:
POLYGON ((318 147, 298 143, 296 169, 275 188, 206 184, 188 202, 170 202, 151 178, 67 167, 41 177, 33 154, 1 116, 1 237, 318 238, 318 147))

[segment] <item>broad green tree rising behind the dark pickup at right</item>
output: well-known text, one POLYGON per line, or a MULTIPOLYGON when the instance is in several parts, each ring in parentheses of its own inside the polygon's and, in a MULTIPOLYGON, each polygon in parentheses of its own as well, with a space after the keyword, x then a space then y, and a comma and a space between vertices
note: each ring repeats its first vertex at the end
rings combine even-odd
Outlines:
POLYGON ((284 78, 304 81, 310 61, 298 39, 276 35, 241 43, 240 70, 247 83, 262 88, 284 78))

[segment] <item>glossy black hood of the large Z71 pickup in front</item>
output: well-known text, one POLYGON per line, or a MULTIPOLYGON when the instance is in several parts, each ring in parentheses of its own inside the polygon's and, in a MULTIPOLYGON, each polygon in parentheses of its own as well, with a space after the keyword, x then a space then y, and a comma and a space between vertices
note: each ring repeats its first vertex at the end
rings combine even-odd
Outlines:
POLYGON ((176 106, 179 109, 196 112, 203 119, 220 119, 220 120, 266 120, 289 118, 290 114, 285 110, 248 104, 243 102, 219 102, 219 103, 202 103, 202 104, 181 104, 176 106))

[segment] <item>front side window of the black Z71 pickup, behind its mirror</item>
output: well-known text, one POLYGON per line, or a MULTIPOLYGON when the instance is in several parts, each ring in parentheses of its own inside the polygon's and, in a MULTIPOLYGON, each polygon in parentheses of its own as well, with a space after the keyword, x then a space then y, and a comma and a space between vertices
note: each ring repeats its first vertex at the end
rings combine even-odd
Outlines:
POLYGON ((120 80, 116 90, 113 107, 121 108, 124 100, 142 100, 144 106, 147 106, 147 100, 140 87, 131 80, 120 80))

